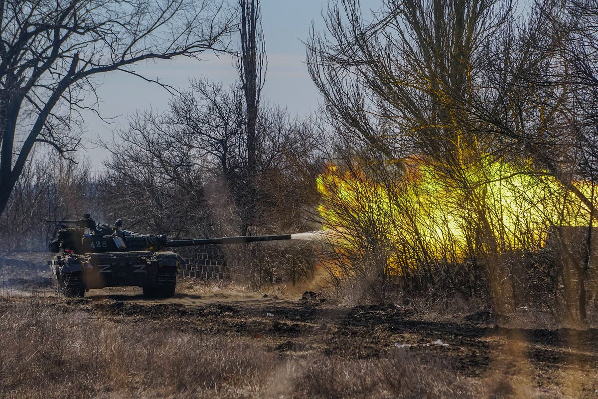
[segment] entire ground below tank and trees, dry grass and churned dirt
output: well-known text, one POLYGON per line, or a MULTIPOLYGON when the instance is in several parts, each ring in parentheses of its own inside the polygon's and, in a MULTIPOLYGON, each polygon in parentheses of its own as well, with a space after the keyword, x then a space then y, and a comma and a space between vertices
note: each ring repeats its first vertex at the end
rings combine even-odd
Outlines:
POLYGON ((598 397, 598 330, 537 315, 344 307, 191 279, 170 300, 64 299, 41 270, 2 273, 0 398, 598 397))

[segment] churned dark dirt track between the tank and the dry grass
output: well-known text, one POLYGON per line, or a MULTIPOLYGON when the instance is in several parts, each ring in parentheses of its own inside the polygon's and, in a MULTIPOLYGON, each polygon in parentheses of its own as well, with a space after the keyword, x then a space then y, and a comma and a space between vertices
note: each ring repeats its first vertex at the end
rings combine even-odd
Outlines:
POLYGON ((4 288, 5 297, 30 296, 34 290, 61 312, 83 311, 116 324, 258 340, 283 357, 377 359, 398 350, 429 354, 446 359, 462 376, 509 379, 514 397, 598 397, 596 328, 505 328, 488 312, 431 318, 393 304, 344 307, 318 295, 278 298, 230 287, 197 290, 191 288, 193 281, 182 281, 176 297, 163 301, 144 300, 133 288, 57 299, 45 275, 2 278, 5 287, 13 279, 11 288, 4 288))

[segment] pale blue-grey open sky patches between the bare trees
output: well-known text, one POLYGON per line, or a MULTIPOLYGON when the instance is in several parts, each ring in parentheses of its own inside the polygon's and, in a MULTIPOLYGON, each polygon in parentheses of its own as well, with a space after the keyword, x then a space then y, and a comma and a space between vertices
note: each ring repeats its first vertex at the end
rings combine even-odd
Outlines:
MULTIPOLYGON (((361 2, 364 17, 369 19, 370 9, 377 10, 381 0, 361 2)), ((319 95, 305 65, 305 41, 312 21, 316 29, 323 29, 322 9, 326 10, 328 0, 262 0, 262 18, 268 71, 263 99, 288 107, 291 115, 306 115, 318 108, 319 95)), ((190 79, 209 78, 224 84, 232 83, 237 76, 236 66, 230 57, 216 57, 204 54, 203 61, 179 59, 138 65, 134 69, 147 77, 159 77, 160 82, 170 84, 179 90, 189 86, 190 79)), ((100 114, 112 118, 106 123, 93 114, 84 115, 87 132, 86 156, 94 169, 101 169, 106 152, 91 141, 100 139, 112 141, 112 132, 124 129, 127 118, 139 110, 166 108, 170 94, 162 87, 147 83, 140 78, 123 72, 112 72, 100 78, 102 85, 97 90, 100 98, 100 114)))

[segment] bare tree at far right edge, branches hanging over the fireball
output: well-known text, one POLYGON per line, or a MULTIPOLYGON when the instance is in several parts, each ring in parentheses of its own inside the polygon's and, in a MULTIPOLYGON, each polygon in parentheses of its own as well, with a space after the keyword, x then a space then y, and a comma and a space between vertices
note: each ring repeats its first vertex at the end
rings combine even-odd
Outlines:
POLYGON ((585 229, 572 229, 568 220, 554 221, 560 243, 552 244, 560 254, 556 264, 566 307, 572 319, 581 321, 598 220, 597 26, 594 2, 535 2, 526 25, 506 32, 489 47, 484 71, 489 90, 471 102, 472 118, 486 124, 486 136, 493 136, 501 151, 532 160, 536 170, 554 176, 562 190, 589 211, 573 224, 585 229), (580 181, 591 184, 584 189, 580 181), (580 252, 584 234, 585 249, 580 252))

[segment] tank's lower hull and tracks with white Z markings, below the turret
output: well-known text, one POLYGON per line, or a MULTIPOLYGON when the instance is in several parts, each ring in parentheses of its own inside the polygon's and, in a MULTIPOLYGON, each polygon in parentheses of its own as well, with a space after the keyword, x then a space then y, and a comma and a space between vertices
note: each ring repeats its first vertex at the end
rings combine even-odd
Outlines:
POLYGON ((170 251, 62 254, 50 262, 65 296, 105 287, 142 287, 147 297, 172 297, 181 257, 170 251))

